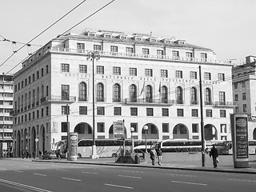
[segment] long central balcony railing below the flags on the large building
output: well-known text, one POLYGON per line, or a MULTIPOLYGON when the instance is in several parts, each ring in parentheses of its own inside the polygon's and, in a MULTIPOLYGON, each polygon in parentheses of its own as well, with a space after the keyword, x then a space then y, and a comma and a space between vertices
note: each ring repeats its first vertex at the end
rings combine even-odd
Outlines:
POLYGON ((153 98, 126 98, 126 104, 158 104, 158 105, 174 105, 174 100, 170 99, 153 99, 153 98))

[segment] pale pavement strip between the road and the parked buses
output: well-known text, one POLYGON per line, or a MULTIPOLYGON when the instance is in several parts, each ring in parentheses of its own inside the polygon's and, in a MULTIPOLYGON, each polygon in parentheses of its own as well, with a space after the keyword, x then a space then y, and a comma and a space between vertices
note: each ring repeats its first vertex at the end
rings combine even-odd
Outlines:
POLYGON ((158 169, 176 169, 176 170, 198 170, 198 171, 214 171, 214 172, 226 172, 226 173, 241 173, 241 174, 256 174, 256 155, 250 156, 249 166, 250 168, 234 168, 232 156, 220 156, 220 163, 217 168, 213 167, 212 159, 206 157, 205 166, 202 166, 202 162, 198 161, 180 161, 180 162, 162 162, 161 166, 152 166, 151 162, 144 162, 140 164, 127 164, 117 163, 115 158, 78 158, 77 161, 62 160, 42 160, 33 159, 33 162, 55 162, 55 163, 75 163, 75 164, 91 164, 91 165, 102 165, 102 166, 137 166, 147 168, 158 168, 158 169))

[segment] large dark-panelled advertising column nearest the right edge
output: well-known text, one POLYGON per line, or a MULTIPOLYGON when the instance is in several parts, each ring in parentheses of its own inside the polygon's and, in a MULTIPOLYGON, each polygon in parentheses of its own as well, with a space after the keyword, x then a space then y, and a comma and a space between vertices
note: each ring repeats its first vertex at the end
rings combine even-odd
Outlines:
POLYGON ((230 114, 234 168, 249 167, 247 114, 230 114))

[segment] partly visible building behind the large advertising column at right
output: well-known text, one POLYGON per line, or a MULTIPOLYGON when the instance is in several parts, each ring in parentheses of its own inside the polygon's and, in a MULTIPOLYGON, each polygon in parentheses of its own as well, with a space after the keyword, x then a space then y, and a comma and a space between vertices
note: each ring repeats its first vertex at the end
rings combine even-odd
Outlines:
POLYGON ((246 57, 246 62, 232 69, 235 113, 248 114, 248 136, 256 140, 256 75, 255 56, 246 57))

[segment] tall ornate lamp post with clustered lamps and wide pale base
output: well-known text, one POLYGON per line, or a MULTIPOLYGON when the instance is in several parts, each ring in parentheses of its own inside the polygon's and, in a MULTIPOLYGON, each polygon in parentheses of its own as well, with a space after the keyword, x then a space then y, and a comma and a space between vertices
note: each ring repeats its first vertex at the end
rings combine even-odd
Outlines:
POLYGON ((94 59, 99 59, 99 53, 98 51, 90 50, 87 53, 87 60, 93 62, 93 146, 92 146, 92 154, 90 158, 98 158, 97 149, 96 149, 96 143, 95 143, 95 87, 94 87, 94 59))

